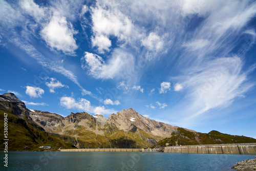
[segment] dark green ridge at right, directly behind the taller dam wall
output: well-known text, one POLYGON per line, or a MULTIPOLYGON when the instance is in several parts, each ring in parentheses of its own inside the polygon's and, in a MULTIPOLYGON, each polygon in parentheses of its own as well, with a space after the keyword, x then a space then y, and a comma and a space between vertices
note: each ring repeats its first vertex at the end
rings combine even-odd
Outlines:
POLYGON ((256 143, 256 139, 244 136, 222 134, 211 131, 208 134, 189 132, 179 127, 172 137, 160 140, 155 146, 199 145, 199 144, 229 144, 229 143, 256 143))

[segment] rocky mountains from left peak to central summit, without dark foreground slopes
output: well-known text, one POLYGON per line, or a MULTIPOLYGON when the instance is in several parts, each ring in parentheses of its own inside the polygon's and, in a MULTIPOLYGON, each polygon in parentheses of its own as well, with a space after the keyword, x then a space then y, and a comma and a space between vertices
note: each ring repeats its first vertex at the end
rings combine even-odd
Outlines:
POLYGON ((105 118, 86 112, 58 114, 29 110, 13 93, 0 95, 0 108, 27 123, 79 147, 148 147, 172 136, 177 126, 143 117, 134 109, 122 110, 105 118))

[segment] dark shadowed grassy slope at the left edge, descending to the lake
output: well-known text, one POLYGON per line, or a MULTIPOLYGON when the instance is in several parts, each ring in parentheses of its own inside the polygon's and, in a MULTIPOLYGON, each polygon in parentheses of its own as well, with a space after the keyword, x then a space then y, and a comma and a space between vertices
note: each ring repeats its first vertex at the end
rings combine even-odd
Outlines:
POLYGON ((8 151, 39 151, 39 146, 52 146, 53 149, 74 148, 71 143, 67 143, 45 131, 40 131, 24 119, 18 118, 9 111, 0 109, 0 151, 4 150, 4 113, 8 114, 8 151), (26 147, 27 146, 27 147, 26 147))

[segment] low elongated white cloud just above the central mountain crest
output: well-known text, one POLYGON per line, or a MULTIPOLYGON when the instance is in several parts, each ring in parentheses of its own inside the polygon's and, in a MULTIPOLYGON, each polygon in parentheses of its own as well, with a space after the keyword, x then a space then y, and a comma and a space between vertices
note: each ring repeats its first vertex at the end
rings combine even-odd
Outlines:
POLYGON ((79 98, 77 101, 73 97, 61 97, 60 105, 67 109, 76 109, 81 112, 92 112, 95 115, 113 114, 116 111, 111 109, 105 109, 104 106, 92 106, 91 102, 84 98, 79 98))

